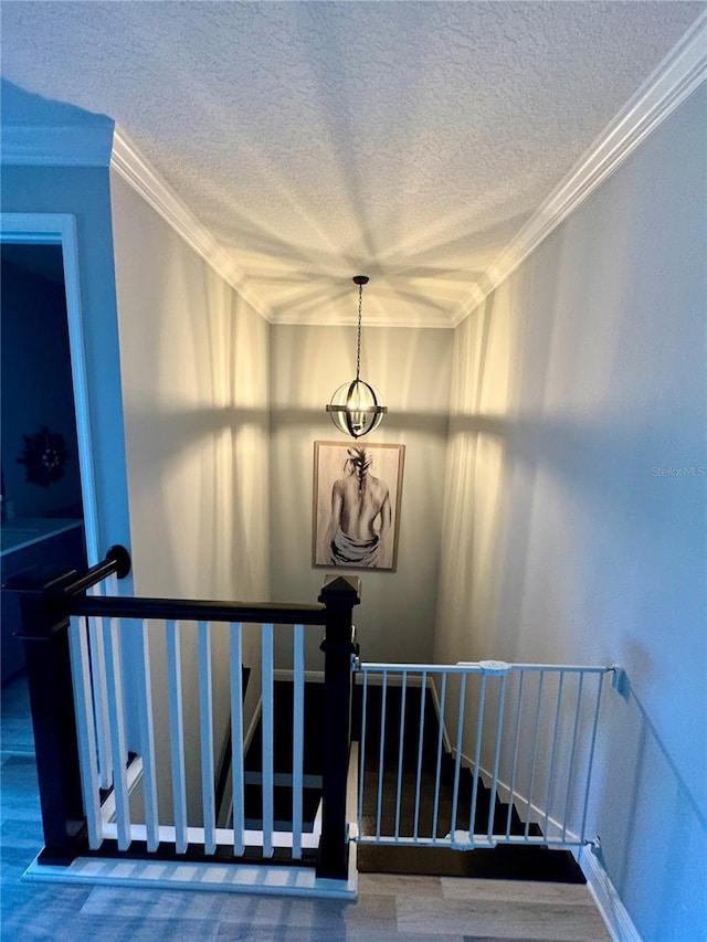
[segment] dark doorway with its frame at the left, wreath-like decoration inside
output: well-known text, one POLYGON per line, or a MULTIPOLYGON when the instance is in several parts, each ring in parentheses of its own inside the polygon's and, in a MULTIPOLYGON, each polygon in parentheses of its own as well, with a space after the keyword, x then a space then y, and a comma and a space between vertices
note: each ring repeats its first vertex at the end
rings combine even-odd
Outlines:
POLYGON ((73 218, 3 215, 0 263, 6 685, 24 668, 8 586, 85 569, 97 540, 73 218))

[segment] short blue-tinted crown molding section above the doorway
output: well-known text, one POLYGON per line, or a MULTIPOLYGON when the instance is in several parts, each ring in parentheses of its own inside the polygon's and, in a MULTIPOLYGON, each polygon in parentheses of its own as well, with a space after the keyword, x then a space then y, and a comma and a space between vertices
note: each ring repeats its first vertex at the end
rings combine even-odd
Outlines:
POLYGON ((30 167, 107 167, 113 121, 98 125, 2 125, 0 160, 30 167))

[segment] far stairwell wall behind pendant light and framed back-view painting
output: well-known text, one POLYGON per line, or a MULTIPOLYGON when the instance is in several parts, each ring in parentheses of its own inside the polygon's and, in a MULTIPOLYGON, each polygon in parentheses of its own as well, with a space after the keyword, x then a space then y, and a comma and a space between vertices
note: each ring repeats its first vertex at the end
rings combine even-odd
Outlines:
MULTIPOLYGON (((367 290, 373 292, 374 284, 367 290)), ((356 295, 351 290, 351 304, 356 295)), ((354 620, 367 660, 425 660, 432 655, 440 562, 443 469, 452 332, 363 326, 361 378, 389 408, 365 444, 405 445, 395 572, 359 570, 362 604, 354 620)), ((351 442, 326 404, 356 374, 356 330, 272 328, 272 585, 276 601, 316 601, 330 569, 312 564, 316 441, 351 442)), ((347 571, 348 572, 348 571, 347 571)), ((308 663, 320 669, 318 634, 308 663)))

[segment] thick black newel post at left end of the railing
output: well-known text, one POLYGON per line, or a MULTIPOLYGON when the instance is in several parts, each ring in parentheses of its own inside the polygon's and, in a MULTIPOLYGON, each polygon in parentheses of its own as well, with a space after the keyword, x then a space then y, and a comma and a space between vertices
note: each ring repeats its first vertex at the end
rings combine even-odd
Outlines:
POLYGON ((18 588, 18 636, 24 643, 44 829, 41 864, 68 865, 87 847, 68 616, 61 597, 62 589, 75 579, 76 572, 72 571, 39 588, 18 588))

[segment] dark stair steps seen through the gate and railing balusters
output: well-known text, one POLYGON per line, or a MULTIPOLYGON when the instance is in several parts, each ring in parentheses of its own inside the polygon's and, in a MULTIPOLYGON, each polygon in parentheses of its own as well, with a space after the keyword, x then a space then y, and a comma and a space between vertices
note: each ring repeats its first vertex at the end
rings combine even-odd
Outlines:
MULTIPOLYGON (((368 726, 366 730, 366 756, 363 758, 363 814, 359 825, 363 835, 374 835, 378 821, 377 786, 380 775, 381 742, 381 690, 368 691, 368 726)), ((354 700, 352 734, 360 742, 361 697, 360 688, 354 700)), ((418 728, 420 717, 420 688, 408 689, 405 719, 402 723, 402 697, 400 688, 389 688, 387 694, 383 738, 383 790, 381 795, 380 833, 393 834, 398 819, 400 837, 415 835, 415 811, 418 832, 432 834, 435 818, 437 837, 450 829, 453 812, 455 762, 444 751, 441 776, 436 785, 436 751, 440 724, 430 698, 425 700, 423 748, 421 753, 420 794, 418 797, 418 728), (400 730, 403 729, 402 752, 400 730), (402 760, 402 761, 401 761, 402 760), (397 787, 400 771, 400 792, 397 787)), ((312 832, 321 800, 324 686, 305 685, 305 748, 304 748, 304 809, 303 829, 312 832)), ((274 770, 275 770, 275 829, 292 828, 292 716, 293 685, 278 680, 274 685, 274 770)), ((246 827, 262 827, 262 723, 258 723, 245 756, 245 819, 246 827)), ((460 769, 456 826, 460 830, 485 832, 490 812, 490 790, 478 781, 475 821, 471 819, 474 780, 466 768, 460 769)), ((494 829, 506 829, 523 835, 526 824, 515 806, 494 801, 494 829)), ((528 834, 541 836, 540 828, 530 823, 528 834)), ((498 845, 494 848, 476 848, 463 851, 450 847, 422 845, 366 845, 358 848, 357 862, 363 874, 407 874, 440 877, 476 877, 486 879, 535 880, 563 883, 584 883, 584 877, 569 850, 550 849, 542 845, 498 845)))

